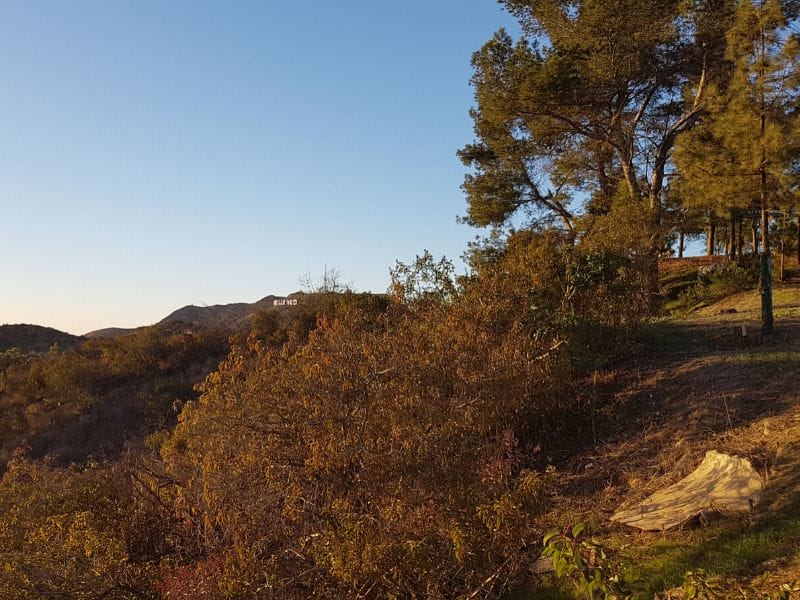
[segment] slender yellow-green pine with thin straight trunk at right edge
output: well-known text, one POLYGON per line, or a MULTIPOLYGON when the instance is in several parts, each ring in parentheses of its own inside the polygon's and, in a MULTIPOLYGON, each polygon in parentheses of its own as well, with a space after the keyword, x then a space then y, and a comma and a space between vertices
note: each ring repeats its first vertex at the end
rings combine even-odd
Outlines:
POLYGON ((792 202, 800 133, 798 39, 778 0, 742 0, 727 34, 730 76, 709 89, 701 123, 678 140, 685 197, 722 213, 760 213, 761 329, 773 332, 769 210, 792 202))

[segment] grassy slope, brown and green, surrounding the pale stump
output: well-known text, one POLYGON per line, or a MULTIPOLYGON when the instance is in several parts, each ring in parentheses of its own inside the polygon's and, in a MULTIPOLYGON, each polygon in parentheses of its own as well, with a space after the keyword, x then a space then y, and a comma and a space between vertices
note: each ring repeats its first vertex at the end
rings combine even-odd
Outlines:
POLYGON ((616 549, 637 598, 679 585, 689 569, 730 591, 775 590, 800 576, 800 287, 779 286, 775 306, 772 339, 757 335, 757 292, 737 294, 647 328, 635 358, 596 379, 598 397, 608 398, 597 403, 602 433, 561 466, 550 521, 587 521, 616 549), (690 473, 709 449, 749 458, 767 481, 751 515, 663 533, 608 521, 620 503, 690 473))

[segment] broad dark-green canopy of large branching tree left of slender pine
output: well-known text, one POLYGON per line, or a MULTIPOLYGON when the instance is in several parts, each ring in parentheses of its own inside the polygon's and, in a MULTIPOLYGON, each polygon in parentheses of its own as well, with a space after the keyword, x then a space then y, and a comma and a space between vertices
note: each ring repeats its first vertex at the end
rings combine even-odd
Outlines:
POLYGON ((626 195, 657 213, 677 136, 724 71, 732 2, 507 0, 523 35, 472 59, 476 140, 460 152, 466 220, 520 210, 572 231, 578 201, 626 195))

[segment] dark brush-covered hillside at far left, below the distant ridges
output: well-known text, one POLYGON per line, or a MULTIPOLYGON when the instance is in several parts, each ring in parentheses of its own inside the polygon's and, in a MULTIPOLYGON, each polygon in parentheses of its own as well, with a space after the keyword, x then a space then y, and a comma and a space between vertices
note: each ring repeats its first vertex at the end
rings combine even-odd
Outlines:
POLYGON ((61 465, 118 455, 126 444, 174 420, 172 403, 194 398, 193 386, 230 347, 226 336, 186 335, 176 325, 108 339, 9 327, 0 331, 27 332, 27 338, 16 336, 18 342, 38 334, 44 349, 57 340, 60 351, 0 353, 0 474, 18 448, 61 465))

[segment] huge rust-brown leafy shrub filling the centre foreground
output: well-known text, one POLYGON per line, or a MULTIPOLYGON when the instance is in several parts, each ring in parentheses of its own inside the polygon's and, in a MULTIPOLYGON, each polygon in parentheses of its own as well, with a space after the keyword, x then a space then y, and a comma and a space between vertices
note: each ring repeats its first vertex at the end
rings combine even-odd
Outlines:
POLYGON ((548 242, 519 238, 439 302, 341 309, 299 348, 231 352, 162 447, 173 501, 225 559, 221 597, 451 598, 514 580, 549 501, 530 449, 575 409, 563 350, 583 297, 571 250, 548 242))

